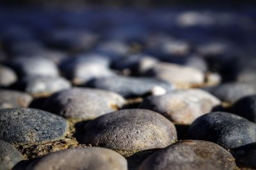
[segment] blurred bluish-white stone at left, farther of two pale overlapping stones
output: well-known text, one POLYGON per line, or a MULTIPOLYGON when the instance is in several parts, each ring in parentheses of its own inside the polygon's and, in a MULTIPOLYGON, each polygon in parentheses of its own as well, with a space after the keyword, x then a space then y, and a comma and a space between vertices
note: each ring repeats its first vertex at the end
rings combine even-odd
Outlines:
POLYGON ((58 68, 44 57, 17 57, 8 63, 19 76, 58 76, 58 68))

